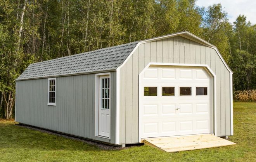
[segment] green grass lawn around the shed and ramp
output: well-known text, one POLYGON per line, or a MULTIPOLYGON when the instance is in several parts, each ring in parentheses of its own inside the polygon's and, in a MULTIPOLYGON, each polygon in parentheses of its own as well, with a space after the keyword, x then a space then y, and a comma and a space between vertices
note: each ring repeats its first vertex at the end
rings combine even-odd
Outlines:
POLYGON ((0 161, 256 161, 256 103, 234 103, 229 140, 237 145, 176 153, 148 146, 102 150, 14 124, 0 120, 0 161))

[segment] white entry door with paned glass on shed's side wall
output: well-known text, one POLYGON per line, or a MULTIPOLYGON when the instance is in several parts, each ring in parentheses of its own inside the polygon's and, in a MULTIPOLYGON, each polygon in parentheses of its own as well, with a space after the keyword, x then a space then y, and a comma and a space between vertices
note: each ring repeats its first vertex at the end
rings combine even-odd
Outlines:
POLYGON ((110 79, 99 77, 99 135, 109 137, 110 132, 110 79))

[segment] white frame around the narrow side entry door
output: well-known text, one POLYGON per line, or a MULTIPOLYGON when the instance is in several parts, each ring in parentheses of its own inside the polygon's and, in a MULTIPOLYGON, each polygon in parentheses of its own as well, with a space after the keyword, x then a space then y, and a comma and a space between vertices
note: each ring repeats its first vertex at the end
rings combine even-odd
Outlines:
POLYGON ((109 76, 109 118, 111 122, 111 73, 99 73, 95 74, 95 137, 111 139, 111 123, 109 123, 109 137, 99 136, 99 78, 100 76, 109 76))

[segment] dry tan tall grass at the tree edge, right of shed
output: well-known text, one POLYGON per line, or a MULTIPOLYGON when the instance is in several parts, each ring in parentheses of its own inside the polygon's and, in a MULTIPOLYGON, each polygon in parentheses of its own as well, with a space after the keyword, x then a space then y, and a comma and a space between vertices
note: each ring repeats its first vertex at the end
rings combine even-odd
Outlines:
POLYGON ((256 102, 256 90, 244 90, 234 92, 234 101, 256 102))

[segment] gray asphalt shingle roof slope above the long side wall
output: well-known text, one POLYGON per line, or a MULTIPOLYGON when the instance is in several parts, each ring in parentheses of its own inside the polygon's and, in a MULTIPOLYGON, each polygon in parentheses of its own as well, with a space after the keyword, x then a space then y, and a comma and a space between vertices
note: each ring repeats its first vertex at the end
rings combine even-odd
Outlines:
POLYGON ((138 42, 30 64, 16 79, 35 79, 117 69, 138 42))

